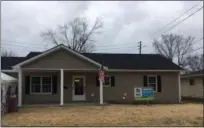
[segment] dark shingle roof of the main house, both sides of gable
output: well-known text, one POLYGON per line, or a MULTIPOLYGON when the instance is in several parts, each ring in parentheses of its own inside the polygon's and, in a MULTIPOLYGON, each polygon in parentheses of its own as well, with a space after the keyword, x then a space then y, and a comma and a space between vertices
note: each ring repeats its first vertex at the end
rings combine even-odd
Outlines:
MULTIPOLYGON (((2 69, 11 69, 11 66, 39 54, 41 52, 31 52, 26 57, 2 57, 2 69)), ((182 70, 178 65, 158 54, 82 53, 82 55, 98 63, 103 62, 109 69, 182 70)))

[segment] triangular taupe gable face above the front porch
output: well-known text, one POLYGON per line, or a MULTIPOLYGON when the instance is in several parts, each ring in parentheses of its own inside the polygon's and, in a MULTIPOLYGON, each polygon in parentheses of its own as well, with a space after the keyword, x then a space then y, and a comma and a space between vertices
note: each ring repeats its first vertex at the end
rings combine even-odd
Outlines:
POLYGON ((99 69, 97 65, 81 59, 65 49, 58 49, 21 67, 24 69, 99 69))

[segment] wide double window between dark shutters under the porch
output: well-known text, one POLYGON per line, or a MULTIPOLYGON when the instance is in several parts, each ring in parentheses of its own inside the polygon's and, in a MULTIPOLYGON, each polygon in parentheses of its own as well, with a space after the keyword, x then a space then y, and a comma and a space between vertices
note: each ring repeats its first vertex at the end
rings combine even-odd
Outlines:
POLYGON ((31 93, 52 93, 52 77, 31 77, 31 93))

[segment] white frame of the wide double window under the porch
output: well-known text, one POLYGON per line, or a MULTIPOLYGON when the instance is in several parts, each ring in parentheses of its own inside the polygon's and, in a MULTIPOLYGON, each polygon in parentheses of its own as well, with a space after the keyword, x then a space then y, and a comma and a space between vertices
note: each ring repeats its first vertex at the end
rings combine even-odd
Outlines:
POLYGON ((30 94, 52 94, 52 76, 31 76, 30 77, 30 94), (40 77, 40 92, 32 92, 32 78, 33 77, 40 77), (50 92, 42 92, 43 84, 42 84, 42 78, 43 77, 50 77, 51 78, 51 91, 50 92))

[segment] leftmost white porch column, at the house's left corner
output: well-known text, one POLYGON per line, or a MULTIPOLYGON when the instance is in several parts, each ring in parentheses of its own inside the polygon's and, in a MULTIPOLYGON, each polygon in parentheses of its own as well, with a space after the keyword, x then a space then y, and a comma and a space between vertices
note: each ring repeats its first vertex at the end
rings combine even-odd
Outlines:
POLYGON ((18 106, 22 106, 22 70, 18 71, 18 106))

